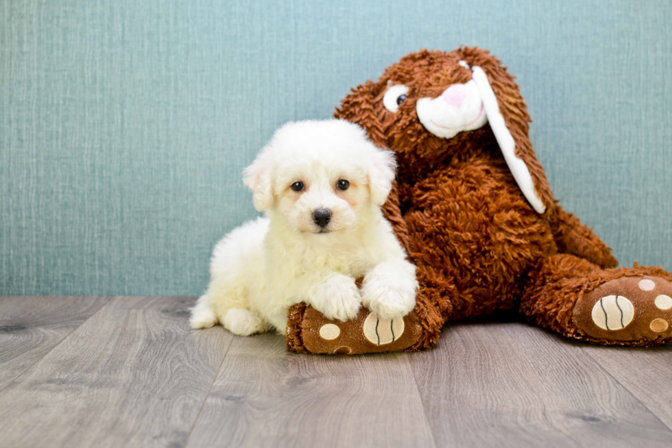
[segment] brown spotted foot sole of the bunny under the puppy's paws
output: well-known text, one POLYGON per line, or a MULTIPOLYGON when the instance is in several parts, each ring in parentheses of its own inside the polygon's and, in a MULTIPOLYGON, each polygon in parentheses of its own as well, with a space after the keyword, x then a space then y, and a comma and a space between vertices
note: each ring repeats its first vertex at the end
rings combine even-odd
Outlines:
POLYGON ((420 339, 422 326, 415 312, 403 319, 384 320, 366 308, 347 322, 326 319, 315 308, 303 315, 301 337, 311 353, 357 355, 401 351, 420 339))

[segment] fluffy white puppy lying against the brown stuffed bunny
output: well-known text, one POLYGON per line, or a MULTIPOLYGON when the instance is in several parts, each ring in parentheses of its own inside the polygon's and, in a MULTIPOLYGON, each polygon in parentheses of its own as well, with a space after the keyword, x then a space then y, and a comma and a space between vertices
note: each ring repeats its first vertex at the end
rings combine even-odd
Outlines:
POLYGON ((391 151, 347 121, 278 129, 243 174, 266 217, 217 243, 191 327, 219 322, 245 336, 270 327, 284 334, 289 307, 301 301, 341 321, 362 304, 381 319, 408 314, 415 266, 381 212, 395 166, 391 151))

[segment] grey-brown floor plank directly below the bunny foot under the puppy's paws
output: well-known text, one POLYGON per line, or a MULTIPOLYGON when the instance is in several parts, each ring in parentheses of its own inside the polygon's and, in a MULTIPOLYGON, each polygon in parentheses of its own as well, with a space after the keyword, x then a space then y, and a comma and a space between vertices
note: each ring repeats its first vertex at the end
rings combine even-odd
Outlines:
POLYGON ((236 337, 187 447, 431 447, 406 353, 289 353, 236 337))

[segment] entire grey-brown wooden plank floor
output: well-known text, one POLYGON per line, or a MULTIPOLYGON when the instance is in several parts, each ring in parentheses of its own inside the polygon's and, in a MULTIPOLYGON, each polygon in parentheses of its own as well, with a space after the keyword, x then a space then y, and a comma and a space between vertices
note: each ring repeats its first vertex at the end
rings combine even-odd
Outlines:
POLYGON ((1 447, 672 447, 672 347, 460 323, 422 353, 192 331, 193 298, 0 297, 1 447))

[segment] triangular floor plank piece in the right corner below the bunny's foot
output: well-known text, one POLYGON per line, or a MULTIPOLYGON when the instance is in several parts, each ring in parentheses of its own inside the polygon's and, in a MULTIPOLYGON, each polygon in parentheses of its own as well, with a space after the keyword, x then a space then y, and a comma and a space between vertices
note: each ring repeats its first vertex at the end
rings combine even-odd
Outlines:
POLYGON ((672 346, 586 347, 585 351, 672 429, 672 346))

